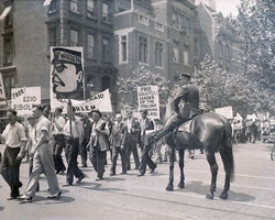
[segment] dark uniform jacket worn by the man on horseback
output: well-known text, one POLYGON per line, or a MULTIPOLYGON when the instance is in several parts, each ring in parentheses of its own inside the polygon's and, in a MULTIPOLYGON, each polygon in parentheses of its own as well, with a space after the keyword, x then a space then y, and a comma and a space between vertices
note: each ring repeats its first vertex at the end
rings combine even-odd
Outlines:
POLYGON ((174 99, 174 108, 176 113, 183 113, 185 118, 200 113, 199 88, 191 82, 183 86, 174 99), (184 102, 183 109, 179 109, 180 100, 184 102))

